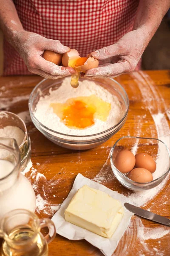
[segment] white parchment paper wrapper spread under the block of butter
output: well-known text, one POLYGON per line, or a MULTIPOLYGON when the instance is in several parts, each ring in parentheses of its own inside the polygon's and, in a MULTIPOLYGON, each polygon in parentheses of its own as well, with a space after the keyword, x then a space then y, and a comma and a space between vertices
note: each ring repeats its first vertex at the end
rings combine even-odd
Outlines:
POLYGON ((59 235, 64 236, 70 240, 85 239, 89 243, 99 248, 99 250, 101 250, 105 256, 111 256, 114 250, 116 249, 117 245, 119 244, 121 237, 125 233, 125 230, 129 225, 129 222, 133 213, 129 212, 124 207, 125 213, 123 215, 122 221, 120 222, 116 231, 113 233, 113 236, 111 237, 111 239, 96 235, 91 231, 85 230, 81 227, 71 224, 68 221, 65 221, 65 218, 64 218, 65 209, 68 207, 68 204, 70 203, 71 199, 73 198, 77 190, 84 185, 88 185, 91 188, 99 189, 103 192, 108 193, 111 197, 119 200, 122 203, 123 207, 125 202, 134 204, 132 201, 129 201, 124 195, 121 195, 118 192, 112 191, 111 189, 108 189, 102 184, 96 183, 95 181, 92 181, 79 173, 74 181, 73 187, 68 197, 65 199, 60 209, 54 214, 52 218, 52 221, 54 221, 54 224, 56 227, 56 232, 59 235))

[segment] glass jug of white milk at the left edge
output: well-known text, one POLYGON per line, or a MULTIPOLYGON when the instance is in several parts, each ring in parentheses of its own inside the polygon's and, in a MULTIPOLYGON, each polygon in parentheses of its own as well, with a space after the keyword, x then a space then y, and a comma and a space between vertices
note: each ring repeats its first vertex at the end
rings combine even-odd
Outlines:
POLYGON ((11 138, 0 137, 0 220, 13 209, 35 211, 36 197, 29 180, 20 173, 20 151, 11 138))

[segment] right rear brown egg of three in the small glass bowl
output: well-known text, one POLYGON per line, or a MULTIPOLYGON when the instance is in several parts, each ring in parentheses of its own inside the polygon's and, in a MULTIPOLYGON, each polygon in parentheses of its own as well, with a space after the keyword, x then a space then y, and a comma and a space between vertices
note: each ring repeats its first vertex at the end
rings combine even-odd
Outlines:
POLYGON ((139 154, 136 154, 135 158, 136 158, 135 167, 147 169, 151 173, 155 172, 156 163, 150 155, 146 153, 139 153, 139 154))

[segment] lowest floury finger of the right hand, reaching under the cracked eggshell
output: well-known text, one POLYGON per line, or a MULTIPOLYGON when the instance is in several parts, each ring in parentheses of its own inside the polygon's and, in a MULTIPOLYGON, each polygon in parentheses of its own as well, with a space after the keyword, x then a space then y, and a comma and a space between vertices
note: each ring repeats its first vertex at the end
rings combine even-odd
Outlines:
POLYGON ((85 77, 95 76, 95 77, 115 77, 119 74, 127 73, 131 71, 127 61, 120 61, 115 64, 108 65, 106 67, 98 67, 87 70, 85 77))

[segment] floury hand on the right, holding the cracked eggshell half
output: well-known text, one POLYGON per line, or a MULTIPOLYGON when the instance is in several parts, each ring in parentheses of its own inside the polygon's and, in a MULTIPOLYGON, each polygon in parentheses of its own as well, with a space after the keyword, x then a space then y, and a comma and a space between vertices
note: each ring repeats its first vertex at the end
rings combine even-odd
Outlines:
POLYGON ((99 67, 87 70, 85 77, 107 78, 135 70, 149 40, 143 29, 125 34, 116 44, 91 52, 99 67))

